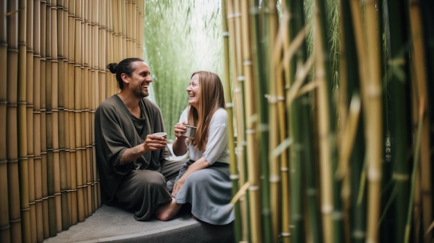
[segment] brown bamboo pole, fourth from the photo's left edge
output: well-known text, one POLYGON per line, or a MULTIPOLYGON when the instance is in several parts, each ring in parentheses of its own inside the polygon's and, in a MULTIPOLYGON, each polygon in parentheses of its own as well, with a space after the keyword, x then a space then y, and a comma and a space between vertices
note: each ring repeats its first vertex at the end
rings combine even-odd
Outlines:
POLYGON ((35 150, 34 150, 34 129, 33 129, 33 87, 34 87, 34 65, 33 65, 33 12, 34 2, 27 1, 26 6, 26 119, 27 119, 27 159, 28 159, 28 206, 30 208, 30 240, 37 242, 36 207, 35 207, 35 150))

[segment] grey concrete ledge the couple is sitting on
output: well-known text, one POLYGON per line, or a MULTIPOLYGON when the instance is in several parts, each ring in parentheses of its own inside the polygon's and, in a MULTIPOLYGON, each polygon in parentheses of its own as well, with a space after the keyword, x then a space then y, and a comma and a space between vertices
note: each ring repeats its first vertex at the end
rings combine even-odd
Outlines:
POLYGON ((103 205, 95 213, 69 230, 58 233, 44 243, 91 242, 234 242, 232 224, 214 226, 191 217, 181 210, 174 219, 162 222, 151 219, 139 222, 132 213, 103 205))

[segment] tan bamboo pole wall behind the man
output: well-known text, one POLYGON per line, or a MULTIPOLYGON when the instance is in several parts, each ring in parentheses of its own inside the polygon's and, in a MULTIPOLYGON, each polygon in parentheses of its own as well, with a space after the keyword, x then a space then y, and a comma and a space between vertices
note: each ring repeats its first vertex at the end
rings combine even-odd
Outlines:
POLYGON ((94 111, 142 57, 145 0, 0 1, 0 242, 42 242, 101 206, 94 111))

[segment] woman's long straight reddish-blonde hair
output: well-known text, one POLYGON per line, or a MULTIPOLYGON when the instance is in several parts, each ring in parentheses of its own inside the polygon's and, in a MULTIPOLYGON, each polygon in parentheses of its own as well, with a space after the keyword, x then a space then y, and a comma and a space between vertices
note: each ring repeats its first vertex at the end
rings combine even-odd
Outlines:
POLYGON ((189 109, 189 124, 197 127, 191 143, 198 150, 205 150, 211 118, 218 108, 225 108, 225 92, 216 73, 197 71, 191 75, 191 78, 194 75, 198 75, 200 94, 199 111, 193 106, 189 109))

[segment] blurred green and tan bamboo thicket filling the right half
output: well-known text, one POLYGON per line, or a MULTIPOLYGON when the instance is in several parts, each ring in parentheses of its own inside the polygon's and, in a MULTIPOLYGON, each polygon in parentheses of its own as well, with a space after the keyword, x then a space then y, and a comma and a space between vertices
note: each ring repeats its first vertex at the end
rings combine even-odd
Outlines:
POLYGON ((236 242, 433 242, 431 1, 222 7, 236 242))

